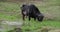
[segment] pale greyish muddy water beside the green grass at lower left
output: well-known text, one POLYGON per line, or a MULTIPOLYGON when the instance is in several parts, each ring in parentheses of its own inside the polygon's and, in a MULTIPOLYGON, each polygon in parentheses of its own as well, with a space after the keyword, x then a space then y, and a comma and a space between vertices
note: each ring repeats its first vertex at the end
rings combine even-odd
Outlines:
POLYGON ((0 22, 0 32, 6 32, 15 27, 21 27, 23 21, 1 21, 0 22))

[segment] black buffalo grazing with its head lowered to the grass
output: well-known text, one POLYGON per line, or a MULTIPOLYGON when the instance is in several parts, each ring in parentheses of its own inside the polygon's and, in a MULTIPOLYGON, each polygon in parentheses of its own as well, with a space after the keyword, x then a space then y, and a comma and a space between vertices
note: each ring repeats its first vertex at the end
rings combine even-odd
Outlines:
POLYGON ((44 16, 43 14, 39 11, 39 9, 33 5, 25 5, 23 4, 21 7, 22 10, 22 16, 23 16, 23 20, 25 20, 25 16, 29 18, 29 21, 31 18, 34 18, 34 20, 38 20, 38 21, 42 21, 44 16))

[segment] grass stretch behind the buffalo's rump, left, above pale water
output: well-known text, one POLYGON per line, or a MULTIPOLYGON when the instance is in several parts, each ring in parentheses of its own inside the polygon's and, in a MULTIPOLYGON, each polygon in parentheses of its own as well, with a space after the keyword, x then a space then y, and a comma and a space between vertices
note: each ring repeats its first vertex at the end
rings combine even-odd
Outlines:
POLYGON ((16 20, 20 18, 20 6, 16 3, 0 2, 0 19, 16 20))

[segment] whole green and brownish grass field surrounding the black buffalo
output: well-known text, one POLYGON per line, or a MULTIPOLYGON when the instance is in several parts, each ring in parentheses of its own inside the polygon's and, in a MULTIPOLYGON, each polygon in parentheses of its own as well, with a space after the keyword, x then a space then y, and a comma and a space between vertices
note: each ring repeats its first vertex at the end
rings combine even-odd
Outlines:
MULTIPOLYGON (((48 0, 40 3, 34 3, 39 10, 47 16, 47 20, 44 19, 43 22, 39 21, 24 21, 24 25, 21 27, 23 32, 38 32, 41 31, 42 27, 54 27, 60 28, 60 0, 48 0)), ((12 2, 0 2, 0 19, 2 20, 21 20, 21 3, 12 3, 12 2)), ((4 25, 6 30, 8 26, 4 25)), ((13 28, 13 27, 12 27, 13 28)))

